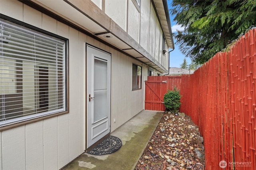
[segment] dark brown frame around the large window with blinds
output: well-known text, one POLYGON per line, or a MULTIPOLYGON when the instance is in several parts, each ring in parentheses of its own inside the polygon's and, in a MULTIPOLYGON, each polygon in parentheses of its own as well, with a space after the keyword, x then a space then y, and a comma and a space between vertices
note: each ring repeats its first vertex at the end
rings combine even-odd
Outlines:
POLYGON ((69 47, 69 40, 67 38, 64 38, 64 37, 61 37, 61 36, 56 35, 54 33, 45 31, 43 29, 40 29, 40 28, 35 27, 33 25, 30 25, 28 23, 24 23, 22 21, 14 19, 14 18, 10 18, 10 17, 5 16, 3 14, 0 14, 0 19, 6 20, 6 21, 11 22, 13 24, 16 24, 20 27, 26 27, 27 29, 32 30, 32 32, 33 31, 38 32, 38 33, 44 34, 46 36, 54 37, 54 38, 61 39, 61 40, 65 41, 65 45, 64 45, 65 55, 63 57, 63 59, 65 60, 64 61, 65 64, 63 66, 63 69, 65 70, 65 75, 63 75, 63 77, 65 78, 65 81, 64 81, 64 84, 63 84, 65 86, 65 91, 64 91, 65 98, 63 98, 63 103, 65 103, 65 106, 63 107, 64 110, 60 111, 60 112, 56 112, 56 113, 47 113, 47 111, 44 111, 43 113, 45 113, 45 114, 40 113, 38 116, 31 117, 30 115, 28 115, 28 116, 24 116, 24 118, 22 117, 23 119, 19 119, 19 120, 15 120, 15 121, 8 121, 7 123, 3 123, 2 125, 0 125, 0 131, 10 129, 10 128, 13 128, 13 127, 17 127, 17 126, 21 126, 21 125, 26 125, 28 123, 40 121, 40 120, 43 120, 43 119, 48 119, 50 117, 56 117, 58 115, 62 115, 62 114, 65 114, 65 113, 69 113, 69 67, 68 67, 69 66, 69 48, 68 48, 69 47))

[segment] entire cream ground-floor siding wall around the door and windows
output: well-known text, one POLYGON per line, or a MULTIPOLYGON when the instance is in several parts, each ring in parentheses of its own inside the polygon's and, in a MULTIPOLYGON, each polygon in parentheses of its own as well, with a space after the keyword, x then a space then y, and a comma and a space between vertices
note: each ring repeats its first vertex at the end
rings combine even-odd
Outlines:
POLYGON ((86 43, 111 53, 111 131, 144 108, 145 64, 19 1, 0 12, 69 39, 70 112, 0 132, 0 170, 56 170, 85 150, 86 43), (132 91, 132 63, 142 66, 142 89, 132 91), (114 122, 115 119, 115 122, 114 122))

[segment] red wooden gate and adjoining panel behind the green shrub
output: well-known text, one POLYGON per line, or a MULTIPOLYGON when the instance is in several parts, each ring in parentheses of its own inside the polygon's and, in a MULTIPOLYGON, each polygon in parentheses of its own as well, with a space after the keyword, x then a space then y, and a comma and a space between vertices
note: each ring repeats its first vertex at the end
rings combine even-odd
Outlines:
POLYGON ((164 94, 180 89, 181 76, 148 76, 145 81, 145 110, 164 111, 164 94))

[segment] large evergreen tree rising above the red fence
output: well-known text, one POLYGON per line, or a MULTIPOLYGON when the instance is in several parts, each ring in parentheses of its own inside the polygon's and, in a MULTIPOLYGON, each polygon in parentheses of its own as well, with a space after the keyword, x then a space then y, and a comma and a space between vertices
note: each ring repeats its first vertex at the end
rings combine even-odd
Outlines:
POLYGON ((184 27, 174 34, 180 50, 200 64, 256 23, 256 0, 172 0, 172 7, 184 27))

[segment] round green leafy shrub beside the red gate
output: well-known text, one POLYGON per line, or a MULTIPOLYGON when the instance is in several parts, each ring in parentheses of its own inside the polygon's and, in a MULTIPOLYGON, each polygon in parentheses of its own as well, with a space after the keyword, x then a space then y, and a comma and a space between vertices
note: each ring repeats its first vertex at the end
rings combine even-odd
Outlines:
POLYGON ((174 90, 167 90, 164 94, 164 106, 167 110, 172 113, 176 113, 177 109, 180 107, 180 90, 174 87, 174 90))

